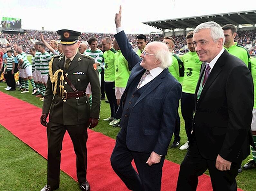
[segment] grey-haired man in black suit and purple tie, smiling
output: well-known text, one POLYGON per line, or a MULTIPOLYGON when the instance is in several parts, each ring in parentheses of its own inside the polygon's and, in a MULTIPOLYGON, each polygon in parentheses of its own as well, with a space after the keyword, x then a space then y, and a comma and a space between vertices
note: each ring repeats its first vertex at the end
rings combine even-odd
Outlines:
POLYGON ((203 64, 177 190, 196 190, 198 176, 207 169, 213 190, 237 190, 237 170, 250 154, 252 77, 244 62, 224 50, 224 40, 222 28, 213 21, 194 29, 195 51, 203 64))

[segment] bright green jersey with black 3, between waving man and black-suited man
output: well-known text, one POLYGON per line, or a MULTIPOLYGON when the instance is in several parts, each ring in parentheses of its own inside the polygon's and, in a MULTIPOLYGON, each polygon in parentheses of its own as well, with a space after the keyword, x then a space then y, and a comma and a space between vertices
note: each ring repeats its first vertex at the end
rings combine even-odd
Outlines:
POLYGON ((202 62, 199 60, 196 52, 188 52, 182 56, 184 64, 184 79, 182 83, 182 92, 194 94, 197 81, 200 76, 202 62))

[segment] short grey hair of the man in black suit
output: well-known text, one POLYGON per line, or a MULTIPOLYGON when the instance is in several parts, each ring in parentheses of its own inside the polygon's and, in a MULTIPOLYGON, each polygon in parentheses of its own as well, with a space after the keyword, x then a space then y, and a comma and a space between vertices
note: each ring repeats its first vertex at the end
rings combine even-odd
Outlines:
POLYGON ((201 23, 200 25, 197 25, 196 28, 194 29, 194 34, 197 33, 201 29, 210 29, 211 30, 211 37, 213 38, 213 41, 216 42, 218 39, 222 38, 223 39, 223 45, 225 42, 225 36, 223 29, 221 26, 214 22, 214 21, 208 21, 201 23))

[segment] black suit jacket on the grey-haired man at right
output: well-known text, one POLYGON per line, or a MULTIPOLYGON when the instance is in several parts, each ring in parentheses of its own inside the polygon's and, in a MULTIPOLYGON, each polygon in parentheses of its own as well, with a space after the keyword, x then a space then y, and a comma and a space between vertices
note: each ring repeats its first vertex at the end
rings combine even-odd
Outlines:
POLYGON ((202 94, 197 92, 206 63, 195 93, 195 115, 192 139, 200 154, 216 160, 220 154, 225 160, 235 162, 250 154, 251 119, 253 108, 253 82, 244 62, 226 50, 215 63, 202 94))

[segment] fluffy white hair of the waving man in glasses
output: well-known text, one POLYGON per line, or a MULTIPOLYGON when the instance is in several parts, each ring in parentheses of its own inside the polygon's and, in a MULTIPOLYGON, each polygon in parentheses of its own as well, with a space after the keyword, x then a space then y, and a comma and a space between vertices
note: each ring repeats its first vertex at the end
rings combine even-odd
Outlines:
POLYGON ((156 50, 156 59, 160 61, 160 66, 163 69, 168 68, 172 64, 172 54, 170 54, 168 49, 160 48, 156 50))

